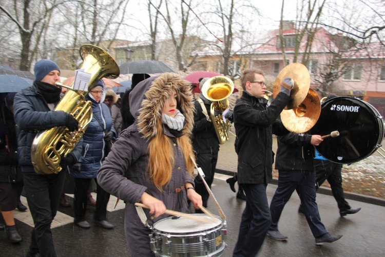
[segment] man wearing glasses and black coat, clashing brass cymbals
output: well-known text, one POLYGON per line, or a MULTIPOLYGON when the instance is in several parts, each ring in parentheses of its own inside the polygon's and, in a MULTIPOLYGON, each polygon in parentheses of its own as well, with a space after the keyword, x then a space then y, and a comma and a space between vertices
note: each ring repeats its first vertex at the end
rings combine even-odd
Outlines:
POLYGON ((238 183, 244 189, 246 207, 233 256, 255 256, 271 223, 266 186, 272 180, 272 134, 288 133, 277 118, 290 100, 294 81, 284 78, 280 93, 267 107, 264 72, 246 69, 240 80, 243 94, 234 107, 233 117, 237 135, 238 183))

